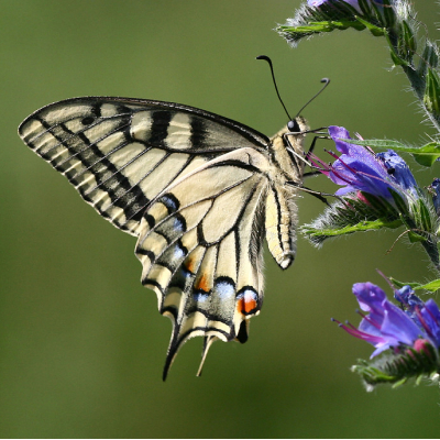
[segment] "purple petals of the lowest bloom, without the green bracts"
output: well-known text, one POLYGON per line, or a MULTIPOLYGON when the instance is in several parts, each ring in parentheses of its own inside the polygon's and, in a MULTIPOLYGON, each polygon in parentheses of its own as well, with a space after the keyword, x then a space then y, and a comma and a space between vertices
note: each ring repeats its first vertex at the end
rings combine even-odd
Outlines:
POLYGON ((350 323, 340 326, 376 348, 371 358, 387 349, 395 352, 403 346, 421 350, 426 343, 440 348, 440 310, 432 299, 424 302, 409 286, 405 286, 395 293, 403 310, 388 301, 385 292, 372 283, 354 284, 353 294, 361 309, 369 315, 361 312, 363 319, 358 329, 350 323))

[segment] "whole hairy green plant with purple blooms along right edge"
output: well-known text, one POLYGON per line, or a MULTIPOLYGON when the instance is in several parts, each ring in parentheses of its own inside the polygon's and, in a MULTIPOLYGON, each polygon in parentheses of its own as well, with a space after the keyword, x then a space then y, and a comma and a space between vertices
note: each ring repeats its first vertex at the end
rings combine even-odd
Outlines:
MULTIPOLYGON (((308 163, 329 177, 339 189, 337 198, 301 232, 320 246, 324 240, 360 231, 404 228, 399 237, 419 243, 431 267, 440 272, 440 178, 421 188, 400 153, 411 154, 421 166, 440 161, 440 51, 420 30, 409 0, 304 0, 293 18, 277 28, 292 46, 317 34, 333 31, 367 31, 384 37, 395 67, 406 75, 419 107, 437 130, 425 145, 392 140, 352 140, 342 127, 329 127, 339 154, 329 152, 332 164, 308 153, 308 163), (374 150, 373 150, 374 148, 374 150), (378 152, 375 152, 378 151, 378 152), (429 197, 430 196, 430 197, 429 197)), ((426 302, 410 286, 395 283, 397 305, 371 283, 359 283, 353 293, 361 305, 358 328, 340 326, 373 344, 372 359, 353 367, 369 387, 399 384, 408 377, 440 378, 440 310, 426 302), (404 286, 404 287, 403 287, 404 286), (378 355, 381 354, 381 355, 378 355)), ((414 288, 436 292, 440 279, 414 288)))

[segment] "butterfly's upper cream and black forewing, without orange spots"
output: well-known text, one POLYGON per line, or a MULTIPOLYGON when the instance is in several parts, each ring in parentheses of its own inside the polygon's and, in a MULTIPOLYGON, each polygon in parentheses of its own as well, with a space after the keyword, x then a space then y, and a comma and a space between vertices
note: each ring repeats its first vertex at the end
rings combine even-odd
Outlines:
POLYGON ((178 176, 219 154, 268 142, 191 107, 99 97, 44 107, 19 133, 101 216, 133 235, 148 202, 178 176))

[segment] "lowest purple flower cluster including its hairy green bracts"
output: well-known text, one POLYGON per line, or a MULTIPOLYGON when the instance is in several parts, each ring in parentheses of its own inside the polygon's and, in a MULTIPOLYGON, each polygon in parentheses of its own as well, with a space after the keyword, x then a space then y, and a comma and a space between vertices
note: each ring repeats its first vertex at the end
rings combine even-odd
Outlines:
POLYGON ((440 310, 433 299, 424 302, 410 286, 404 286, 395 290, 399 308, 372 283, 355 284, 353 294, 363 310, 359 328, 337 322, 351 336, 375 346, 371 358, 391 351, 386 362, 363 362, 353 367, 366 384, 397 383, 440 373, 440 310))

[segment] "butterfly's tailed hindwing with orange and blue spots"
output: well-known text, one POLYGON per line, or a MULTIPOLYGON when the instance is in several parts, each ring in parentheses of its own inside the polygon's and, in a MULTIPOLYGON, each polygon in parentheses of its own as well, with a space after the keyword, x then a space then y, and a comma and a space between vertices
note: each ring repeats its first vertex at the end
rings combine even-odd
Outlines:
POLYGON ((191 337, 244 342, 243 321, 261 308, 264 162, 251 148, 227 153, 170 185, 145 211, 136 245, 142 283, 174 324, 165 375, 191 337))

